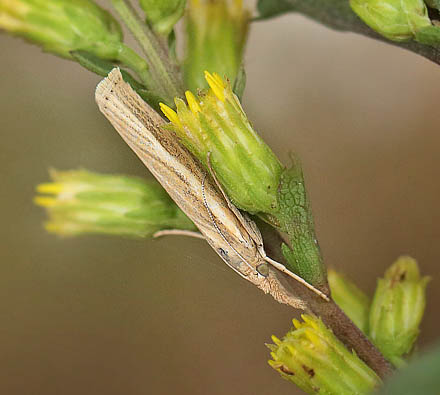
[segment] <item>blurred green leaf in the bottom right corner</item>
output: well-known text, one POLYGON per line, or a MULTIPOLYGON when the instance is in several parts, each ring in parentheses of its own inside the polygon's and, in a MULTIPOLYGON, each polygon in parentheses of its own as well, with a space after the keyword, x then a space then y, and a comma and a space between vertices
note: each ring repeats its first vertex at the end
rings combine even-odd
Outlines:
POLYGON ((410 363, 385 383, 378 395, 438 395, 440 390, 440 343, 410 363))

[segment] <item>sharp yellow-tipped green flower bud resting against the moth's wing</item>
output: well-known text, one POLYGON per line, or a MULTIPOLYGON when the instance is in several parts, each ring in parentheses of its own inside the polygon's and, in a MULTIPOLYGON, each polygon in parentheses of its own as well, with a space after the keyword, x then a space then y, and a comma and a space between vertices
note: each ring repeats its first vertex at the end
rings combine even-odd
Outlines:
POLYGON ((177 113, 161 104, 171 127, 183 144, 214 173, 231 201, 240 209, 271 212, 277 206, 281 164, 252 129, 238 98, 228 82, 216 73, 205 72, 208 92, 187 103, 176 98, 177 113))

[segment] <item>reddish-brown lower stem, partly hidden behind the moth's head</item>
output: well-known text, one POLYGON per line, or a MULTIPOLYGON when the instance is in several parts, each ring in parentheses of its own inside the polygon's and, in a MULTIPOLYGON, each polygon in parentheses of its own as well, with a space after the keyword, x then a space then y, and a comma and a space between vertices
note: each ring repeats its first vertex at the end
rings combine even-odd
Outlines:
MULTIPOLYGON (((258 227, 263 235, 267 254, 272 259, 285 264, 286 262, 280 249, 283 240, 279 233, 263 221, 258 221, 258 227)), ((353 349, 358 357, 373 369, 379 377, 384 379, 392 373, 393 368, 391 364, 333 300, 326 302, 308 288, 283 273, 280 273, 279 278, 286 284, 286 288, 291 289, 295 296, 307 304, 310 312, 321 317, 324 324, 333 331, 348 349, 353 349)))

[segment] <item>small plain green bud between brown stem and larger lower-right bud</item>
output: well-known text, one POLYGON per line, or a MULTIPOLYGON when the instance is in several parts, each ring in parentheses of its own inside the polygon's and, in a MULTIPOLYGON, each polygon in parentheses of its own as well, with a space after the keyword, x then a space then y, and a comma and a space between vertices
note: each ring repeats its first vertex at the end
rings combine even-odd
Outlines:
POLYGON ((355 325, 368 334, 370 299, 353 282, 341 273, 328 271, 328 282, 332 298, 355 325))

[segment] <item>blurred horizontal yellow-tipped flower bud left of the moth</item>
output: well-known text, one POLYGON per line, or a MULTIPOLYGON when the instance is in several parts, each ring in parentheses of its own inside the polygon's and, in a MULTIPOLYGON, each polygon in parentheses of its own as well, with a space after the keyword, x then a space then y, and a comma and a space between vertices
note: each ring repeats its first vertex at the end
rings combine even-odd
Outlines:
POLYGON ((49 232, 148 237, 164 229, 196 230, 156 182, 86 170, 52 171, 51 177, 35 197, 47 210, 49 232))

